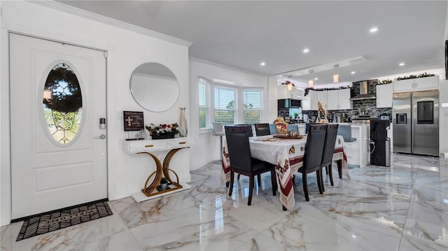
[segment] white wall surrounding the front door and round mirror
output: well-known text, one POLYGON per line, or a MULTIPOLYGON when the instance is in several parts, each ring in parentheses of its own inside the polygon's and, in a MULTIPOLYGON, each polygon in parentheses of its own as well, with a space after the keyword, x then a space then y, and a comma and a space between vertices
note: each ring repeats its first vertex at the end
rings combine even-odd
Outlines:
MULTIPOLYGON (((73 10, 55 2, 1 1, 1 225, 10 217, 10 160, 9 160, 9 97, 8 97, 8 31, 50 38, 108 52, 107 59, 107 148, 109 199, 130 196, 144 185, 148 176, 147 159, 127 155, 122 142, 123 110, 144 111, 146 123, 179 121, 179 107, 190 107, 188 85, 188 46, 190 43, 109 20, 108 24, 94 20, 90 14, 73 10), (48 7, 51 6, 51 7, 48 7), (58 8, 58 9, 56 9, 58 8), (75 14, 73 14, 76 13, 75 14), (125 28, 123 28, 125 27, 125 28), (164 38, 164 39, 161 39, 164 38), (144 62, 158 62, 171 69, 179 80, 177 103, 163 113, 141 108, 130 93, 130 77, 144 62)), ((191 126, 190 126, 191 127, 191 126)))

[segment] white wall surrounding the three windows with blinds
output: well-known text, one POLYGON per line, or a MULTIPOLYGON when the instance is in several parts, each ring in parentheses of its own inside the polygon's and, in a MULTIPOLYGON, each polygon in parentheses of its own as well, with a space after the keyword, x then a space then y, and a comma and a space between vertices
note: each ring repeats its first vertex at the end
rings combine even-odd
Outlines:
MULTIPOLYGON (((228 66, 207 62, 202 59, 190 59, 190 106, 187 108, 190 117, 190 127, 188 134, 197 137, 197 145, 190 149, 190 168, 195 170, 208 164, 209 162, 219 159, 219 137, 212 136, 211 131, 200 131, 199 129, 199 103, 197 83, 199 77, 202 76, 209 80, 219 79, 227 80, 235 83, 235 86, 241 87, 263 87, 265 88, 265 96, 270 97, 269 89, 267 89, 267 76, 248 73, 228 66)), ((276 99, 276 94, 275 94, 276 99)), ((265 99, 263 106, 270 108, 272 103, 268 103, 265 99)), ((275 101, 276 102, 276 101, 275 101)), ((276 103, 274 109, 276 110, 276 103)), ((270 121, 268 111, 263 113, 263 120, 270 121)), ((225 140, 225 138, 223 138, 225 140)))

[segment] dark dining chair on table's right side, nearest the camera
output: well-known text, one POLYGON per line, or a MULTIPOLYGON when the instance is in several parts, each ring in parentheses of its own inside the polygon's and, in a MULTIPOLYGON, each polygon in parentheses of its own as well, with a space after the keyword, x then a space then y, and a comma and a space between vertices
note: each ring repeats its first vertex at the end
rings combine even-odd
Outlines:
POLYGON ((298 172, 302 173, 303 192, 305 199, 309 201, 307 173, 316 172, 317 186, 319 193, 323 194, 321 181, 321 164, 323 155, 323 146, 325 145, 325 134, 327 124, 309 124, 307 134, 307 144, 303 155, 303 166, 298 172))

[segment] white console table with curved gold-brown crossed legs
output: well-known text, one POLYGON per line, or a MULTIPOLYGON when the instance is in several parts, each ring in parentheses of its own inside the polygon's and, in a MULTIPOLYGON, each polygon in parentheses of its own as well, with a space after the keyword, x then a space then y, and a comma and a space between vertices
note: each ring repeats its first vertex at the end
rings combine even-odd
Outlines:
POLYGON ((169 166, 172 162, 174 155, 177 152, 190 148, 191 145, 195 145, 195 138, 168 138, 159 140, 140 140, 140 141, 123 141, 123 151, 128 154, 141 154, 149 155, 155 162, 156 170, 153 171, 146 179, 145 185, 141 192, 135 192, 131 194, 132 198, 137 201, 146 201, 148 199, 158 198, 174 192, 180 192, 186 189, 190 189, 190 185, 186 182, 191 180, 190 178, 190 166, 188 162, 186 166, 169 166), (167 152, 162 162, 155 154, 162 154, 163 151, 167 152), (163 163, 163 164, 162 164, 163 163), (170 176, 174 174, 174 176, 170 176), (162 176, 165 176, 169 181, 169 189, 160 190, 160 180, 162 176), (174 180, 174 177, 176 178, 174 180))

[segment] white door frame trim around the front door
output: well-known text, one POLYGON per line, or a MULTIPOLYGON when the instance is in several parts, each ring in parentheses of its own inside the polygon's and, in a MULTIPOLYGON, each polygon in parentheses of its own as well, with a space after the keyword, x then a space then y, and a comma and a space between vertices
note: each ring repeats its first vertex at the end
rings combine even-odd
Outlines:
MULTIPOLYGON (((1 23, 0 23, 1 24, 1 23)), ((12 189, 11 189, 11 159, 10 159, 10 89, 9 89, 9 34, 20 34, 24 36, 31 36, 34 38, 45 39, 57 43, 66 43, 78 47, 88 48, 92 50, 101 50, 106 53, 106 117, 112 117, 110 114, 111 101, 108 88, 109 83, 109 55, 115 50, 115 45, 99 43, 98 41, 91 41, 89 39, 80 38, 76 36, 67 36, 55 34, 52 31, 42 31, 41 29, 33 29, 33 27, 23 27, 16 24, 1 24, 0 25, 0 226, 10 224, 12 215, 12 189), (71 41, 76 41, 73 43, 71 41)), ((108 120, 109 122, 111 120, 108 120)), ((109 126, 106 127, 106 135, 109 132, 109 126)), ((106 171, 107 171, 107 196, 111 196, 111 184, 115 184, 115 179, 111 180, 111 161, 109 159, 109 144, 106 143, 106 171)))

